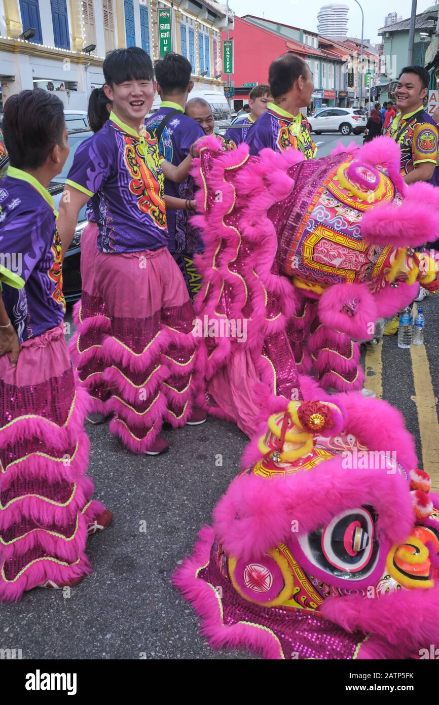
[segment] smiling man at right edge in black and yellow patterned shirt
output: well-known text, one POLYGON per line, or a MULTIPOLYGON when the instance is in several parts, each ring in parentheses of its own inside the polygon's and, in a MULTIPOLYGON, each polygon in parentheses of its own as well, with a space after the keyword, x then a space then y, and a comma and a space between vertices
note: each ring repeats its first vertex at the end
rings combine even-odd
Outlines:
POLYGON ((399 112, 385 134, 400 145, 400 171, 405 183, 435 183, 439 134, 433 119, 423 108, 429 81, 430 75, 423 66, 406 66, 395 89, 399 112))

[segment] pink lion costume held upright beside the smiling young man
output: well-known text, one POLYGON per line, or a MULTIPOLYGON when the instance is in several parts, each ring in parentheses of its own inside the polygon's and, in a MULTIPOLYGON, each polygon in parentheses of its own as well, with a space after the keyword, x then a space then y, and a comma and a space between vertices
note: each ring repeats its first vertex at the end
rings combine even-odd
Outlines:
MULTIPOLYGON (((283 329, 299 372, 359 390, 356 341, 411 302, 419 281, 437 285, 434 259, 413 248, 438 237, 439 190, 405 185, 399 165, 388 137, 308 161, 295 149, 223 154, 206 140, 195 174, 206 244, 197 313, 247 319, 253 349, 283 329)), ((232 344, 207 345, 209 381, 232 344)))

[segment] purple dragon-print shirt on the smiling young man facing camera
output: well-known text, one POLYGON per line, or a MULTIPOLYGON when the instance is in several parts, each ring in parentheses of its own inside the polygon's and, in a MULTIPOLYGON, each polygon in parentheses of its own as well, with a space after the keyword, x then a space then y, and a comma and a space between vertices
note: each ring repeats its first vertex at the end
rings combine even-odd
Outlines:
POLYGON ((158 250, 168 244, 168 231, 156 137, 148 130, 139 137, 114 120, 111 114, 104 127, 78 147, 66 183, 94 196, 98 250, 158 250))

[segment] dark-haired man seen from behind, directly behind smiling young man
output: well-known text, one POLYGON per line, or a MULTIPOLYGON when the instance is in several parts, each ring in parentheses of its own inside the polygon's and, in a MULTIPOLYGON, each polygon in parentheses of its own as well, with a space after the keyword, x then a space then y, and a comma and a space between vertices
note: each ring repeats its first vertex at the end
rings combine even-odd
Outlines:
MULTIPOLYGON (((204 137, 200 125, 185 115, 188 94, 194 87, 191 80, 191 65, 185 56, 168 51, 163 59, 154 63, 157 92, 162 102, 159 110, 145 121, 145 127, 159 138, 159 152, 166 161, 178 166, 190 153, 190 148, 199 137, 204 137)), ((194 180, 187 176, 183 183, 165 179, 164 190, 176 198, 191 198, 194 180)), ((168 250, 177 262, 190 297, 193 299, 201 287, 193 257, 201 252, 202 241, 187 223, 187 212, 183 209, 168 211, 168 250)))

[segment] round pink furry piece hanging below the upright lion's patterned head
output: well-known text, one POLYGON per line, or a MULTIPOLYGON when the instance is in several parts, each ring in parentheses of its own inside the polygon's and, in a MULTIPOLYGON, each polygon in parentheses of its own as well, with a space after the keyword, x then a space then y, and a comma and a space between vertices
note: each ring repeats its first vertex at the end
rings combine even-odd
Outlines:
POLYGON ((336 284, 330 286, 319 300, 319 318, 330 328, 346 333, 350 338, 370 337, 368 327, 378 318, 373 295, 366 284, 336 284), (355 315, 342 313, 342 307, 357 300, 355 315))

